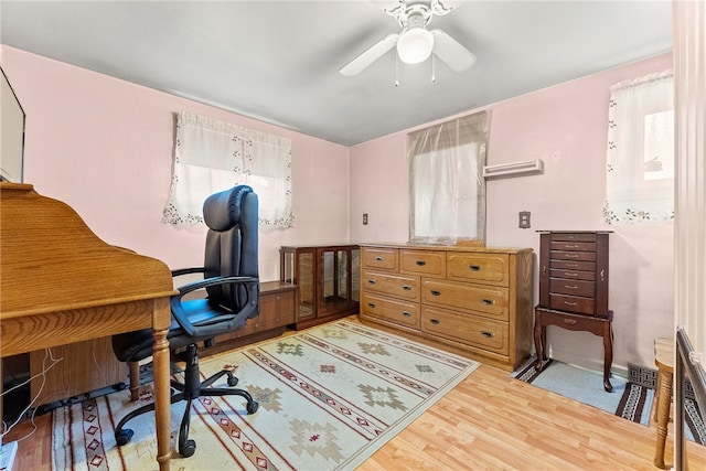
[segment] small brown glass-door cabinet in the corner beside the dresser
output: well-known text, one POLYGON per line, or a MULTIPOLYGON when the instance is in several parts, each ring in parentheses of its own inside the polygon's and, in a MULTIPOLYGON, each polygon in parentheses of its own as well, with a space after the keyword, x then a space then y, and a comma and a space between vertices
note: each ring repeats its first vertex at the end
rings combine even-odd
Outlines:
POLYGON ((285 246, 280 257, 280 279, 297 285, 296 329, 357 313, 357 245, 285 246))

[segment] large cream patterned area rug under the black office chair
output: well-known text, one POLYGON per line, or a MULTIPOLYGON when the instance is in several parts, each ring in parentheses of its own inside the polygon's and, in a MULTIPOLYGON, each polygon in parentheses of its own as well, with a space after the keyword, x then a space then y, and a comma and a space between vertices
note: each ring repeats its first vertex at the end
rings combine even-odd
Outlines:
MULTIPOLYGON (((202 360, 204 377, 237 368, 238 387, 259 410, 247 415, 237 396, 194 400, 196 452, 174 451, 172 469, 352 470, 478 366, 345 320, 202 360)), ((136 404, 122 390, 56 409, 53 469, 156 469, 153 415, 130 421, 128 445, 113 436, 126 413, 151 399, 150 383, 136 404)), ((172 449, 182 410, 172 406, 172 449)))

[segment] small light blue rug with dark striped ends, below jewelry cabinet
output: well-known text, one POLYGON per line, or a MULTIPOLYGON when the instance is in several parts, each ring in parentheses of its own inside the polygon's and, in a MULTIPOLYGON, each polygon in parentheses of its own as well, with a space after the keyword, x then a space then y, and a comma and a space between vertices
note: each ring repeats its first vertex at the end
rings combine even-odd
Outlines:
MULTIPOLYGON (((549 358, 542 373, 534 370, 535 358, 526 363, 514 377, 532 383, 543 389, 607 410, 611 414, 650 426, 650 415, 654 404, 654 390, 640 384, 612 376, 612 393, 603 389, 603 377, 599 373, 582 370, 549 358)), ((706 427, 698 405, 691 398, 685 399, 686 438, 699 445, 706 441, 706 427)), ((673 427, 673 426, 670 426, 673 427)))

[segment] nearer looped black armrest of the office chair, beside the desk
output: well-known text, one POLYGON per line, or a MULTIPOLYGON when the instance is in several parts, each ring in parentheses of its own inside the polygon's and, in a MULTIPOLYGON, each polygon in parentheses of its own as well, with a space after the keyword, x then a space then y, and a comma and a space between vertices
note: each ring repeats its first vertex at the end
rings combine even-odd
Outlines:
MULTIPOLYGON (((248 301, 247 303, 252 303, 253 299, 257 300, 258 291, 259 291, 259 279, 255 277, 214 277, 207 278, 205 280, 194 281, 188 285, 184 285, 179 288, 179 295, 174 295, 170 299, 170 306, 172 311, 172 317, 179 323, 181 329, 190 336, 203 336, 203 335, 212 335, 218 334, 223 331, 223 327, 218 325, 213 328, 212 325, 203 324, 203 325, 194 325, 189 319, 189 315, 182 308, 182 298, 192 292, 196 291, 210 286, 218 286, 218 285, 247 285, 247 293, 248 301), (211 329, 210 329, 211 328, 211 329)), ((227 322, 227 321, 236 321, 244 320, 249 317, 249 310, 243 309, 240 312, 233 312, 232 315, 223 315, 221 317, 218 323, 227 322)))

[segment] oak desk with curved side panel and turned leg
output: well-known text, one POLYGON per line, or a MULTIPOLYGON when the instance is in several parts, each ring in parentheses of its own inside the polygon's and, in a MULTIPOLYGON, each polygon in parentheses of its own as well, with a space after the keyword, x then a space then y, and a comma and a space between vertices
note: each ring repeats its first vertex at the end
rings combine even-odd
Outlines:
POLYGON ((2 356, 152 328, 157 461, 169 470, 169 267, 104 243, 71 206, 32 185, 7 182, 0 253, 2 356))

